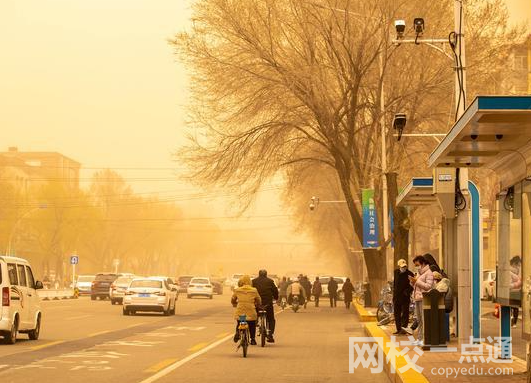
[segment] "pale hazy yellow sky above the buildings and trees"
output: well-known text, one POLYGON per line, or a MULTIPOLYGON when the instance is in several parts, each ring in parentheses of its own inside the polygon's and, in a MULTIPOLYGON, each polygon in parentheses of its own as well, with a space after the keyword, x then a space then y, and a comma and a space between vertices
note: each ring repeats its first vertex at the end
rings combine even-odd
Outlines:
MULTIPOLYGON (((191 1, 0 0, 0 150, 58 151, 85 167, 176 166, 187 80, 167 39, 187 27, 191 1)), ((529 0, 508 4, 514 20, 531 14, 529 0)), ((134 187, 190 189, 174 181, 134 187)), ((282 213, 274 194, 258 214, 282 213)), ((217 206, 208 208, 219 214, 217 206)))

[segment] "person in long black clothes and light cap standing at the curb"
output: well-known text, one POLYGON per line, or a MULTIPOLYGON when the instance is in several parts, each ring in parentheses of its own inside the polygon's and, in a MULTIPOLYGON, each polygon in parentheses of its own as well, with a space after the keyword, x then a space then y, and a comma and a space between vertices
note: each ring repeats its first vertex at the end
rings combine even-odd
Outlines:
POLYGON ((406 334, 403 330, 409 323, 409 306, 411 304, 411 292, 413 287, 409 283, 409 277, 414 274, 407 268, 405 259, 400 259, 397 263, 393 279, 393 313, 395 315, 396 331, 393 335, 406 334))

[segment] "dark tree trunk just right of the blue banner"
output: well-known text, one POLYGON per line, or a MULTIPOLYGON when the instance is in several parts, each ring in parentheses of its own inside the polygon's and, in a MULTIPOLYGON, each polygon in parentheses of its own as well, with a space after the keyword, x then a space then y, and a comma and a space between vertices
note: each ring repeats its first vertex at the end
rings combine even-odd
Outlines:
POLYGON ((409 251, 409 220, 408 212, 405 207, 397 207, 396 199, 398 197, 398 183, 396 173, 387 173, 387 192, 389 195, 389 205, 393 212, 393 242, 394 256, 393 265, 403 258, 407 261, 409 251))

